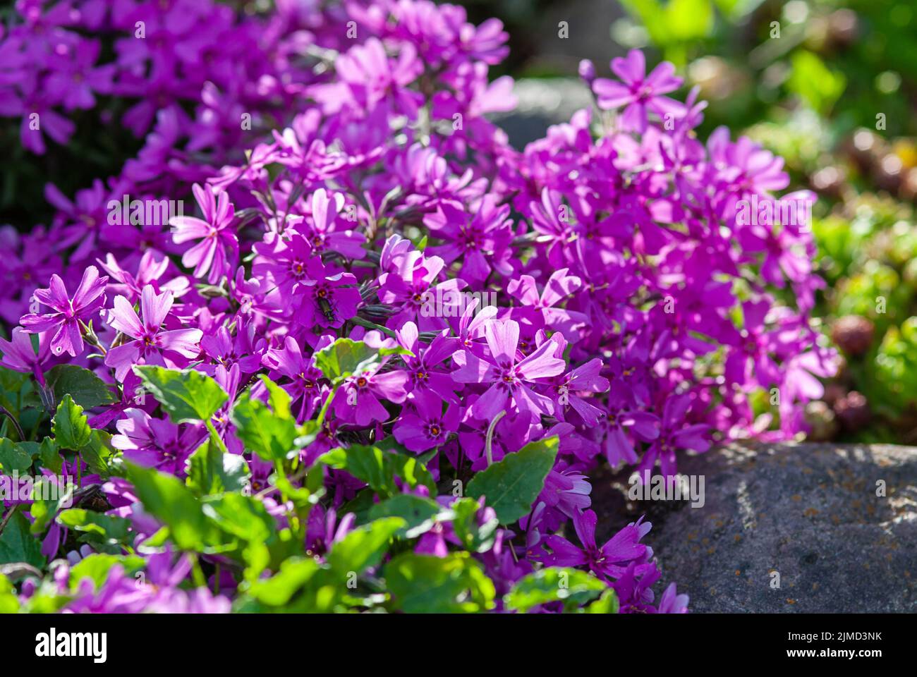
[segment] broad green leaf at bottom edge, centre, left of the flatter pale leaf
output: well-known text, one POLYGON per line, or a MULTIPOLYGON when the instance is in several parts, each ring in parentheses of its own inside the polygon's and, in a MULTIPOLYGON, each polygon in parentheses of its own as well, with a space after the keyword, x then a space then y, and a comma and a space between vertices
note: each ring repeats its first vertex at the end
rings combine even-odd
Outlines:
POLYGON ((493 607, 493 582, 467 552, 447 557, 405 552, 383 571, 392 608, 409 614, 478 613, 493 607))

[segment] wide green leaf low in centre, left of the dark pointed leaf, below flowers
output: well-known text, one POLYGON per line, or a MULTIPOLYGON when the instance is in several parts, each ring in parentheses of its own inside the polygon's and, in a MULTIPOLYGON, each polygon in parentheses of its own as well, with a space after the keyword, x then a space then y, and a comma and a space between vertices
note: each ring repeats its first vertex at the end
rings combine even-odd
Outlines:
POLYGON ((315 491, 315 483, 321 481, 321 467, 326 465, 335 470, 344 470, 362 480, 378 492, 382 498, 400 494, 395 477, 414 489, 425 485, 431 494, 436 494, 433 475, 414 456, 386 451, 379 447, 355 444, 347 449, 331 449, 315 461, 315 468, 309 473, 309 488, 315 491))

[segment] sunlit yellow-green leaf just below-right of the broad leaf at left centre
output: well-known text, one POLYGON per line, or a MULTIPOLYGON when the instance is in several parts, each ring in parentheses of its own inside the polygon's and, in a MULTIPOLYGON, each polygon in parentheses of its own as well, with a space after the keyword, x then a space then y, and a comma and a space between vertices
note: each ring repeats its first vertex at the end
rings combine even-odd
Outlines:
POLYGON ((271 394, 271 400, 281 407, 280 416, 246 393, 238 398, 231 417, 236 425, 236 434, 246 449, 254 451, 265 461, 282 461, 298 453, 295 445, 296 422, 289 416, 289 397, 285 406, 279 395, 271 394))

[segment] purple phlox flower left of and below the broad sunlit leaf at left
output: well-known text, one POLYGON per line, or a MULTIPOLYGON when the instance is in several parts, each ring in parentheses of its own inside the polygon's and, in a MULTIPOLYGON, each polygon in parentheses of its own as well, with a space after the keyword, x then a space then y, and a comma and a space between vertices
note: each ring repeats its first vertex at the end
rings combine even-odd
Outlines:
POLYGON ((127 461, 161 472, 183 477, 185 461, 206 437, 203 426, 183 424, 153 418, 142 409, 125 409, 125 418, 115 427, 112 446, 121 449, 127 461))

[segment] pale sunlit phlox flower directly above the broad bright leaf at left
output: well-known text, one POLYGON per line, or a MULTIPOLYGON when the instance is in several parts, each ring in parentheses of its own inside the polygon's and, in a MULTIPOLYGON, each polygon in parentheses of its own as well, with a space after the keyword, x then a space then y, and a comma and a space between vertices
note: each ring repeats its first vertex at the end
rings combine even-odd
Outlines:
POLYGON ((171 292, 156 294, 148 284, 140 294, 141 322, 127 298, 115 297, 115 307, 109 311, 108 324, 134 339, 109 349, 105 355, 105 364, 115 369, 118 382, 124 381, 131 366, 141 363, 141 360, 144 364, 167 366, 163 352, 173 362, 176 358, 190 360, 200 353, 198 343, 204 336, 200 329, 164 329, 172 302, 171 292))

